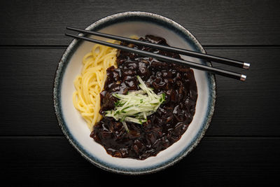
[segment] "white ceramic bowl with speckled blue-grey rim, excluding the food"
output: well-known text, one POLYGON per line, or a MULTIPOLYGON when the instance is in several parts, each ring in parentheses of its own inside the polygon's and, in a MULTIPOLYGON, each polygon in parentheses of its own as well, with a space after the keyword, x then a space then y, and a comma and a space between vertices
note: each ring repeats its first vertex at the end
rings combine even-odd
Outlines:
MULTIPOLYGON (((127 37, 152 34, 165 38, 170 46, 205 53, 201 44, 187 29, 173 20, 154 13, 125 12, 109 15, 94 22, 86 29, 127 37)), ((83 34, 80 35, 83 36, 83 34)), ((95 36, 90 37, 107 40, 95 36)), ((158 153, 158 155, 149 157, 146 160, 115 158, 106 153, 104 147, 97 144, 90 137, 90 130, 87 128, 85 120, 73 107, 72 103, 73 80, 80 74, 81 60, 91 50, 92 46, 94 46, 94 43, 73 39, 62 55, 55 74, 53 87, 55 113, 59 127, 61 127, 70 144, 93 165, 121 174, 157 172, 160 169, 174 165, 174 163, 188 155, 204 136, 214 113, 216 100, 215 76, 205 71, 194 69, 198 92, 196 112, 188 130, 179 141, 176 141, 172 146, 158 153)), ((210 62, 204 60, 182 55, 181 57, 185 60, 211 66, 210 62)))

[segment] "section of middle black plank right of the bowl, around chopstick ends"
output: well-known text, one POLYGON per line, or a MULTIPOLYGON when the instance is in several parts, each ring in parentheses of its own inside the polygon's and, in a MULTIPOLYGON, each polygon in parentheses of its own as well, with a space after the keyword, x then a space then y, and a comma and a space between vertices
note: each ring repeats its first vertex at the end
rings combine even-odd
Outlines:
POLYGON ((211 135, 279 136, 280 64, 279 48, 209 48, 209 54, 250 62, 249 71, 214 64, 215 67, 243 72, 245 82, 217 78, 217 105, 209 128, 211 135))

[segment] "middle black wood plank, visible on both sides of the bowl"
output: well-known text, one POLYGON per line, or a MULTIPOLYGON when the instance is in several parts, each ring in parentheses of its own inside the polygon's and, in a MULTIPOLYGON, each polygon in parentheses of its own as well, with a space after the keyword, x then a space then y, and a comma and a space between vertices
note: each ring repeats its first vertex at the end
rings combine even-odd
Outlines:
MULTIPOLYGON (((214 55, 251 62, 249 71, 241 71, 248 75, 244 83, 216 76, 216 111, 207 136, 280 136, 279 50, 207 48, 214 55)), ((0 49, 0 135, 62 134, 52 107, 52 81, 63 51, 0 49)))

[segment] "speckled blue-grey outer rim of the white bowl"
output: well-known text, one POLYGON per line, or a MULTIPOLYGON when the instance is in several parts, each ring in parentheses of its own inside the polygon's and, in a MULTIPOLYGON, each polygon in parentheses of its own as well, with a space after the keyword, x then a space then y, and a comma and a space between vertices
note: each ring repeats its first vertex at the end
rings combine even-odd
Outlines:
MULTIPOLYGON (((92 23, 90 26, 86 27, 85 29, 98 29, 98 27, 106 22, 108 22, 109 20, 113 20, 116 18, 127 18, 130 16, 140 16, 140 17, 145 17, 145 18, 152 18, 152 19, 156 19, 156 20, 160 20, 163 23, 172 25, 173 27, 175 27, 176 29, 179 29, 180 32, 183 33, 183 36, 188 36, 190 37, 190 40, 193 41, 193 43, 195 43, 195 47, 197 48, 197 50, 200 50, 201 53, 206 53, 206 50, 204 50, 204 48, 202 48, 202 45, 200 44, 199 41, 197 41, 197 39, 195 38, 195 36, 193 36, 193 34, 191 34, 188 29, 184 28, 183 26, 179 25, 179 23, 175 22, 174 20, 171 20, 169 18, 166 18, 162 15, 158 15, 155 13, 148 13, 148 12, 142 12, 142 11, 127 11, 127 12, 123 12, 123 13, 116 13, 113 15, 108 15, 102 19, 97 20, 96 22, 92 23)), ((104 25, 103 25, 104 26, 104 25)), ((105 26, 106 27, 106 26, 105 26)), ((84 34, 79 34, 79 35, 84 35, 84 34)), ((181 151, 181 153, 178 153, 178 155, 176 155, 174 158, 174 160, 171 160, 170 162, 164 162, 163 165, 160 165, 160 167, 158 167, 158 165, 154 166, 154 167, 147 167, 146 170, 144 169, 140 169, 140 170, 135 170, 135 169, 118 169, 118 168, 113 168, 110 167, 108 165, 104 165, 104 162, 97 162, 96 160, 92 160, 92 158, 90 158, 89 155, 87 155, 85 152, 85 150, 82 148, 82 146, 76 141, 76 139, 73 139, 71 133, 69 133, 69 130, 67 130, 66 127, 66 123, 64 121, 63 115, 62 115, 62 111, 61 111, 61 101, 60 101, 60 90, 59 90, 59 86, 62 85, 62 79, 63 79, 63 74, 64 71, 63 69, 66 69, 68 63, 67 60, 71 59, 71 50, 75 50, 76 48, 78 48, 78 46, 80 45, 80 42, 77 39, 73 39, 71 41, 71 43, 69 44, 69 46, 66 48, 66 50, 64 50, 64 53, 62 55, 62 57, 59 60, 59 63, 57 64, 57 69, 55 71, 55 78, 53 81, 53 86, 52 86, 52 100, 53 100, 53 105, 54 105, 54 109, 55 109, 55 115, 57 117, 57 123, 59 125, 59 127, 62 129, 62 132, 64 134, 64 136, 66 137, 66 139, 69 141, 69 143, 76 149, 76 151, 78 151, 78 153, 80 153, 80 155, 83 156, 83 158, 85 158, 85 160, 91 162, 93 165, 104 169, 106 171, 109 172, 115 172, 118 174, 130 174, 130 175, 137 175, 137 174, 148 174, 148 173, 153 173, 153 172, 158 172, 162 169, 165 169, 171 165, 174 165, 176 162, 179 162, 180 160, 182 160, 186 155, 188 155, 188 153, 190 153, 191 151, 193 151, 193 149, 197 146, 197 144, 200 143, 202 137, 204 137, 205 132, 207 131, 210 123, 211 123, 211 118, 214 114, 214 109, 216 106, 216 76, 214 74, 209 74, 207 73, 207 78, 209 78, 209 82, 211 83, 209 85, 209 106, 208 107, 208 111, 206 116, 204 117, 204 122, 202 124, 202 128, 199 130, 199 132, 195 135, 195 137, 193 138, 192 142, 190 143, 190 146, 187 146, 186 148, 183 149, 183 151, 181 151), (203 127, 204 126, 204 127, 203 127)), ((206 62, 207 65, 212 66, 211 62, 206 62)))

